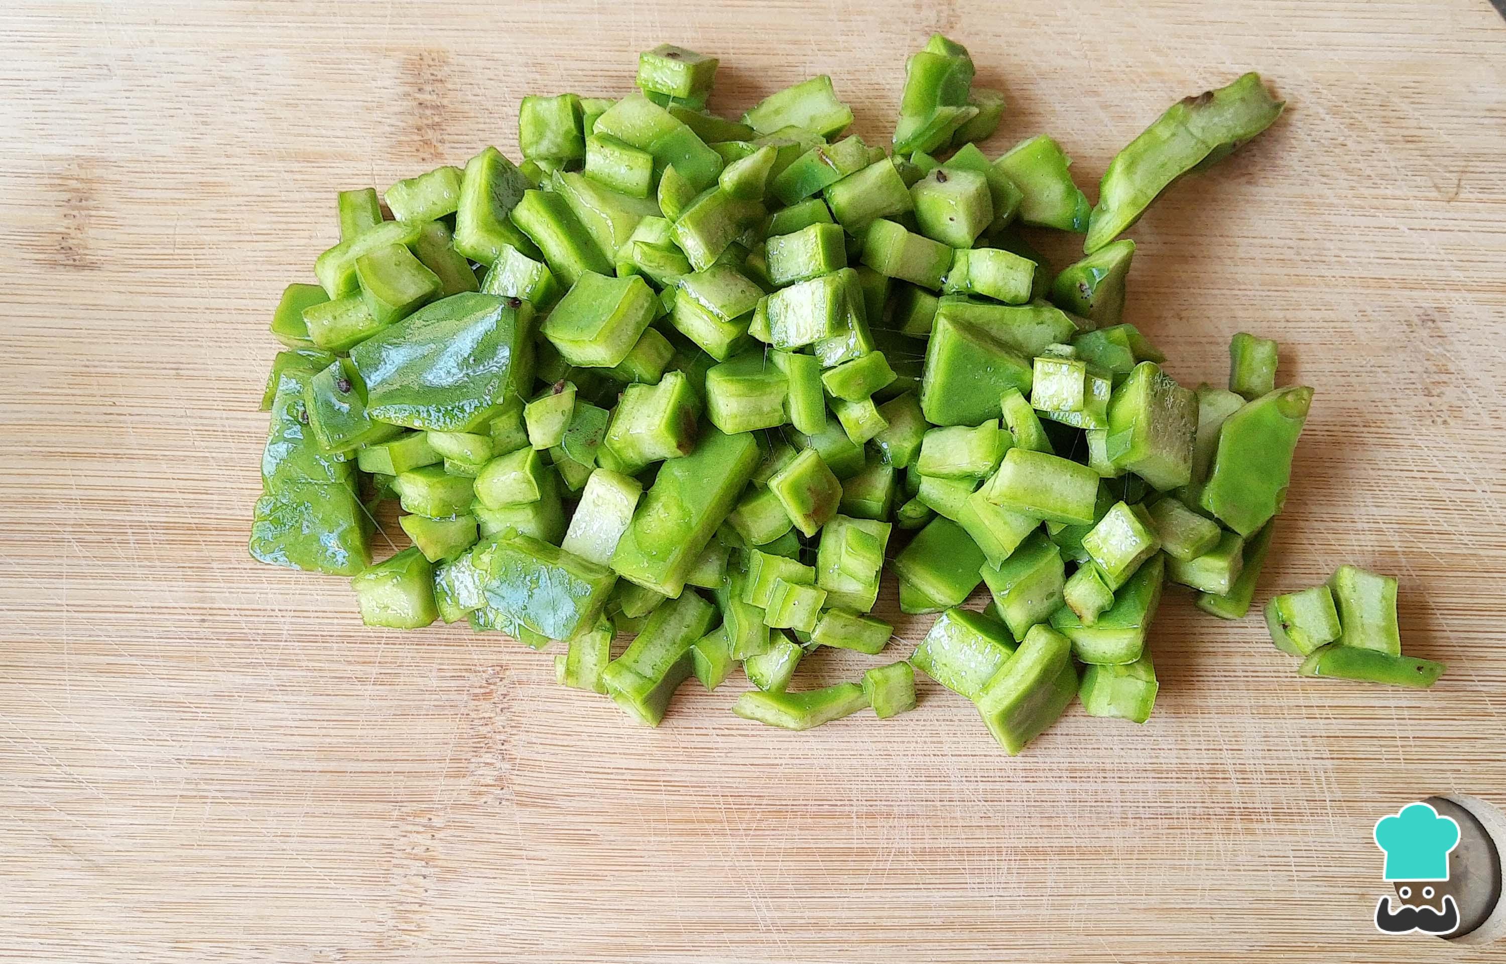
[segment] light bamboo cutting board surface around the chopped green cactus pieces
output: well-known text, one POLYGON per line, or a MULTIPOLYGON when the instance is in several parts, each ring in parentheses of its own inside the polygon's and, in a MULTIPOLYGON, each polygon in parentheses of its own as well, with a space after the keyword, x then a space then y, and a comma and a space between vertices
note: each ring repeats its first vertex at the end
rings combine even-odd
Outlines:
POLYGON ((1500 959, 1370 923, 1376 818, 1506 804, 1485 0, 14 0, 0 131, 0 958, 1500 959), (646 731, 548 655, 367 630, 345 580, 247 557, 265 327, 336 188, 515 154, 524 93, 620 95, 666 39, 721 56, 726 113, 830 72, 884 143, 931 30, 1008 93, 989 154, 1050 131, 1090 196, 1182 95, 1259 69, 1289 101, 1131 232, 1126 319, 1185 384, 1235 331, 1280 339, 1318 395, 1256 606, 1396 574, 1435 690, 1300 679, 1258 615, 1169 589, 1142 728, 1078 706, 1011 759, 922 682, 789 735, 730 715, 738 679, 646 731))

